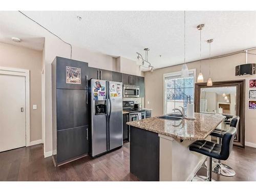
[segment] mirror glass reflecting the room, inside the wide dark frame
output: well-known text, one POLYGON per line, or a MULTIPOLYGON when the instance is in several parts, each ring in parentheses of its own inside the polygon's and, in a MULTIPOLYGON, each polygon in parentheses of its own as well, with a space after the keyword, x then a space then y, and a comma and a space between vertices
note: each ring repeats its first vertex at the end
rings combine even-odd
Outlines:
POLYGON ((200 113, 236 115, 236 87, 202 88, 200 113))

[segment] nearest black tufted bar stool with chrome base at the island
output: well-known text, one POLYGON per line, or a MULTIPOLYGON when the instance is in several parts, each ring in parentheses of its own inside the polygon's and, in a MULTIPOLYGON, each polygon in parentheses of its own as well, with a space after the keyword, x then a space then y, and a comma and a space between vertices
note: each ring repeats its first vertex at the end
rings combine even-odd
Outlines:
MULTIPOLYGON (((233 147, 234 136, 236 135, 237 129, 236 127, 229 127, 228 131, 224 133, 222 137, 221 144, 206 141, 206 140, 198 140, 189 145, 189 150, 193 152, 197 152, 207 156, 208 166, 207 166, 207 176, 202 177, 197 175, 198 170, 195 173, 195 177, 192 181, 195 181, 196 177, 201 178, 206 181, 212 181, 211 179, 211 169, 212 169, 212 158, 218 160, 227 160, 233 147)), ((206 167, 204 167, 206 168, 206 167)))

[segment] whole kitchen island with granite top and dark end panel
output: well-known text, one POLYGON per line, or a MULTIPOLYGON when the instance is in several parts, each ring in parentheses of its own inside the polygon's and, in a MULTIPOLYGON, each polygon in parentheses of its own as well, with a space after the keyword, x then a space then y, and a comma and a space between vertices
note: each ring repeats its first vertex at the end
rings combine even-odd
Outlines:
POLYGON ((196 140, 210 139, 225 116, 195 113, 195 120, 151 117, 127 122, 131 128, 130 172, 141 181, 189 181, 206 159, 190 152, 196 140))

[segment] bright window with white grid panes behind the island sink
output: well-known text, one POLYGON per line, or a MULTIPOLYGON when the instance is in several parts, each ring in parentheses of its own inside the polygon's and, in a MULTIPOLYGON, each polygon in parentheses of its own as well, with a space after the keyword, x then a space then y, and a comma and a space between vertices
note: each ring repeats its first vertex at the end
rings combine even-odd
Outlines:
POLYGON ((181 73, 164 74, 164 113, 172 113, 174 108, 185 109, 189 100, 194 102, 194 79, 196 70, 189 70, 189 77, 182 78, 181 73))

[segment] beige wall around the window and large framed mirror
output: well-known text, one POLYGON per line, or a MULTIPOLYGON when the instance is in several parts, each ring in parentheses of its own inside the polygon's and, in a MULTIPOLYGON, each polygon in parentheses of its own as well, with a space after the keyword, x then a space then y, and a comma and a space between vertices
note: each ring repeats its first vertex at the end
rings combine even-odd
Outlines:
MULTIPOLYGON (((248 51, 256 53, 256 49, 248 51)), ((256 55, 248 54, 248 63, 256 61, 256 55)), ((245 86, 245 141, 256 144, 255 130, 255 110, 248 110, 248 82, 250 78, 256 78, 256 75, 235 76, 235 66, 245 63, 245 54, 240 53, 219 59, 211 60, 211 78, 212 81, 224 81, 232 79, 246 79, 245 86)), ((182 65, 167 67, 155 70, 154 72, 145 72, 145 107, 153 109, 152 115, 163 114, 163 74, 181 71, 182 65), (149 104, 147 104, 149 102, 149 104)), ((200 61, 188 63, 188 69, 196 69, 197 76, 200 70, 200 61)), ((207 81, 209 75, 209 61, 201 61, 201 71, 204 75, 204 81, 207 81)))

